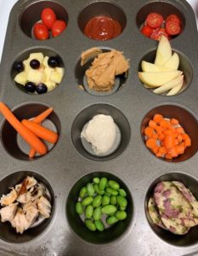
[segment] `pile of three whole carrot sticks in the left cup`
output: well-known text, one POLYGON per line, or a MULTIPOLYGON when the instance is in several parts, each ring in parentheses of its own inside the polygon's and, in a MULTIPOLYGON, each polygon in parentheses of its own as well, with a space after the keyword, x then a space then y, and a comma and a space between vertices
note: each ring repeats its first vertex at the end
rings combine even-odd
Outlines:
POLYGON ((14 130, 17 131, 31 147, 29 153, 30 158, 33 158, 35 154, 43 155, 48 153, 48 148, 42 140, 48 143, 57 143, 58 141, 59 135, 57 132, 51 131, 41 125, 42 121, 46 119, 52 111, 53 108, 48 108, 31 120, 23 119, 20 121, 3 102, 0 102, 0 113, 3 114, 8 123, 12 125, 14 130))

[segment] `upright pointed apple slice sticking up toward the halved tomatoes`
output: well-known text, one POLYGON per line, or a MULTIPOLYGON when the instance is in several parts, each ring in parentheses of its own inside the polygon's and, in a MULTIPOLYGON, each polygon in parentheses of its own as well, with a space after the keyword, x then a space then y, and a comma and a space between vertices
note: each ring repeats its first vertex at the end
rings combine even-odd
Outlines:
POLYGON ((169 40, 161 36, 161 40, 156 49, 156 60, 155 64, 157 66, 163 66, 172 56, 172 49, 169 40))

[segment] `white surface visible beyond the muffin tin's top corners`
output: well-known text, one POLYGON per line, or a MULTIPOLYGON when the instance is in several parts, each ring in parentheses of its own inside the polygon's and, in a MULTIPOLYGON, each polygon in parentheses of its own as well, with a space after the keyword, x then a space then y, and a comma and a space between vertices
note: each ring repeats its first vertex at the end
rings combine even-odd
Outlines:
MULTIPOLYGON (((8 25, 9 12, 18 0, 0 0, 0 61, 2 58, 3 44, 5 39, 5 33, 8 25)), ((198 28, 198 0, 187 0, 195 11, 196 25, 198 28)))

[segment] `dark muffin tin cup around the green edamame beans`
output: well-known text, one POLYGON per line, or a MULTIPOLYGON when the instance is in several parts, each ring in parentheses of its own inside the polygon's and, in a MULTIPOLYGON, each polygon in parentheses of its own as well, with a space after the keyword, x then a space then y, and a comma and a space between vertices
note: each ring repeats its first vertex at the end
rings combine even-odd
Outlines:
POLYGON ((91 242, 93 244, 106 244, 120 239, 124 236, 125 232, 129 228, 131 221, 133 219, 133 199, 130 194, 129 189, 123 183, 123 181, 109 172, 91 172, 86 176, 81 177, 72 187, 66 202, 66 216, 71 229, 80 236, 83 240, 91 242), (82 222, 82 218, 76 213, 76 202, 80 190, 87 183, 92 183, 93 177, 106 177, 108 180, 114 180, 120 184, 122 189, 125 189, 127 193, 127 218, 117 222, 110 228, 105 229, 103 232, 95 231, 92 232, 88 230, 85 224, 82 222))

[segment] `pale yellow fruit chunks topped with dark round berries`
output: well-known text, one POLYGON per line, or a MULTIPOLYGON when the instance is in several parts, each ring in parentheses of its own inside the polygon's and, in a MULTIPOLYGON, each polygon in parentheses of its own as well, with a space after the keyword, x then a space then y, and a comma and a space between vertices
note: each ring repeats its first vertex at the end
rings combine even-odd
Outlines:
POLYGON ((14 81, 24 86, 29 93, 43 94, 54 90, 62 81, 64 68, 58 56, 31 53, 24 61, 15 61, 17 74, 14 81))

